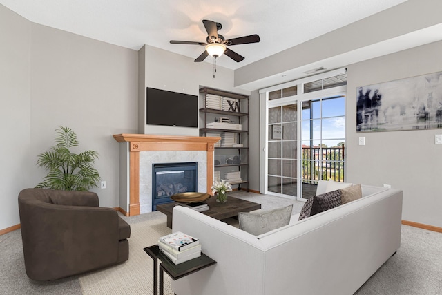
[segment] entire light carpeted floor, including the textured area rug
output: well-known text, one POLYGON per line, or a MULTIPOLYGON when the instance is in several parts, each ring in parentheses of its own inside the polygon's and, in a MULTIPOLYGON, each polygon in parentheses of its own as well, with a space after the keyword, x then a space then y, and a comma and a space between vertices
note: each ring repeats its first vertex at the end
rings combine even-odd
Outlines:
MULTIPOLYGON (((238 191, 232 193, 262 204, 262 209, 302 202, 238 191)), ((130 257, 126 263, 55 282, 35 282, 26 276, 20 230, 0 236, 0 294, 152 294, 153 262, 143 251, 159 236, 168 234, 165 216, 156 211, 124 217, 131 225, 130 257)), ((401 248, 367 280, 357 295, 442 295, 442 234, 402 226, 401 248)), ((363 266, 361 266, 363 267, 363 266)), ((173 294, 165 275, 165 295, 173 294)))

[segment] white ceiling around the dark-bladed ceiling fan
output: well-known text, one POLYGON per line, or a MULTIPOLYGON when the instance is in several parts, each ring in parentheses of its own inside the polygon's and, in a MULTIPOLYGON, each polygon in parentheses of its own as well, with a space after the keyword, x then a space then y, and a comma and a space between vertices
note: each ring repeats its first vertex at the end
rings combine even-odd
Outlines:
MULTIPOLYGON (((195 59, 203 46, 169 40, 205 41, 202 19, 222 23, 226 39, 258 34, 258 44, 230 46, 245 57, 227 56, 218 66, 236 69, 405 0, 0 0, 26 19, 52 28, 139 50, 144 44, 195 59)), ((212 62, 211 58, 206 58, 212 62)))

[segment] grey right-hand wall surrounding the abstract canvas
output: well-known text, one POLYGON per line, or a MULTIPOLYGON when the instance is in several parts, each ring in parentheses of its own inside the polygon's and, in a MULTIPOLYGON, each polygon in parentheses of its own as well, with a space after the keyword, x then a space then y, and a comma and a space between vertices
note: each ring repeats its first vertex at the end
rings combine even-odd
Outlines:
POLYGON ((347 180, 403 189, 403 220, 436 227, 442 227, 442 145, 434 135, 442 130, 356 133, 356 88, 440 71, 442 41, 347 66, 347 180))

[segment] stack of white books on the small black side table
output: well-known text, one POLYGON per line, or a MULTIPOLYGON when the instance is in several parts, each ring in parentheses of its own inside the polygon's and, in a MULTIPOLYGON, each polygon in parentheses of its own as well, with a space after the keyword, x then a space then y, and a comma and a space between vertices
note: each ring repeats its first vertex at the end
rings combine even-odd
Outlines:
POLYGON ((201 256, 200 240, 181 231, 159 238, 158 247, 175 265, 201 256))

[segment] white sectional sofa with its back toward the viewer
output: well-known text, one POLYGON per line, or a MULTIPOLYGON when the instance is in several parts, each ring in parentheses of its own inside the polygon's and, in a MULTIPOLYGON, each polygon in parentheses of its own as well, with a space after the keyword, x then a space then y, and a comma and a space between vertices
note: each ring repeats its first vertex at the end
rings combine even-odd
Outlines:
POLYGON ((200 238, 217 264, 173 281, 177 295, 354 294, 401 243, 402 191, 362 185, 363 198, 253 236, 192 209, 173 231, 200 238))

